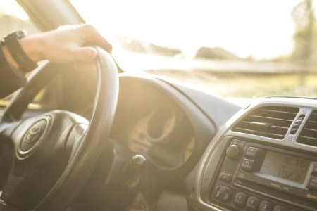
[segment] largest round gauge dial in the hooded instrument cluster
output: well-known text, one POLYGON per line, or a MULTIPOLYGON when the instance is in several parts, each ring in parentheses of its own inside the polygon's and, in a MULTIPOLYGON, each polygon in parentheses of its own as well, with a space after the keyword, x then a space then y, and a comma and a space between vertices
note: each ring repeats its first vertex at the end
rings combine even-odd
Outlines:
POLYGON ((175 111, 170 106, 156 108, 147 123, 147 138, 152 142, 168 142, 175 128, 175 111))

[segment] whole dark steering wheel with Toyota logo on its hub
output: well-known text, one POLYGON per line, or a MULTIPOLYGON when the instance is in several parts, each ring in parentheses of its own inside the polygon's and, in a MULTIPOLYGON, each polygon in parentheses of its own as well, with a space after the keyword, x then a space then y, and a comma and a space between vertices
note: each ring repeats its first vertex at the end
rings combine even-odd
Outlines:
MULTIPOLYGON (((28 103, 67 65, 47 63, 12 99, 0 122, 0 145, 13 155, 1 194, 0 210, 66 210, 105 146, 118 101, 118 70, 97 47, 98 83, 90 122, 65 110, 20 120, 28 103), (8 147, 10 148, 10 147, 8 147)), ((7 158, 9 156, 9 158, 7 158)), ((11 156, 11 158, 10 158, 11 156)))

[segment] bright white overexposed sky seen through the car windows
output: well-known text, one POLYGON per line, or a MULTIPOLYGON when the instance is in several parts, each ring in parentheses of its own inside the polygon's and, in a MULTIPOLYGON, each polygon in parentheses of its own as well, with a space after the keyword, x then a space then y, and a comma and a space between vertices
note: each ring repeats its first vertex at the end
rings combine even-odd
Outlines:
MULTIPOLYGON (((293 48, 292 8, 299 0, 71 0, 87 23, 105 37, 125 34, 193 56, 201 46, 237 56, 275 58, 293 48)), ((27 15, 15 1, 0 11, 27 15)))

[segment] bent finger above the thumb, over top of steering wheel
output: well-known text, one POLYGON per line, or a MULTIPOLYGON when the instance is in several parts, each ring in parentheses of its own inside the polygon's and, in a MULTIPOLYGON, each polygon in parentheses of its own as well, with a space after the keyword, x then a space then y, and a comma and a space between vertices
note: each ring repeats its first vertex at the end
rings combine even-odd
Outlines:
POLYGON ((108 53, 111 53, 111 44, 106 39, 104 39, 104 37, 102 37, 101 34, 99 34, 99 32, 97 32, 97 30, 92 27, 92 25, 84 25, 84 27, 86 43, 100 46, 104 50, 108 51, 108 53))

